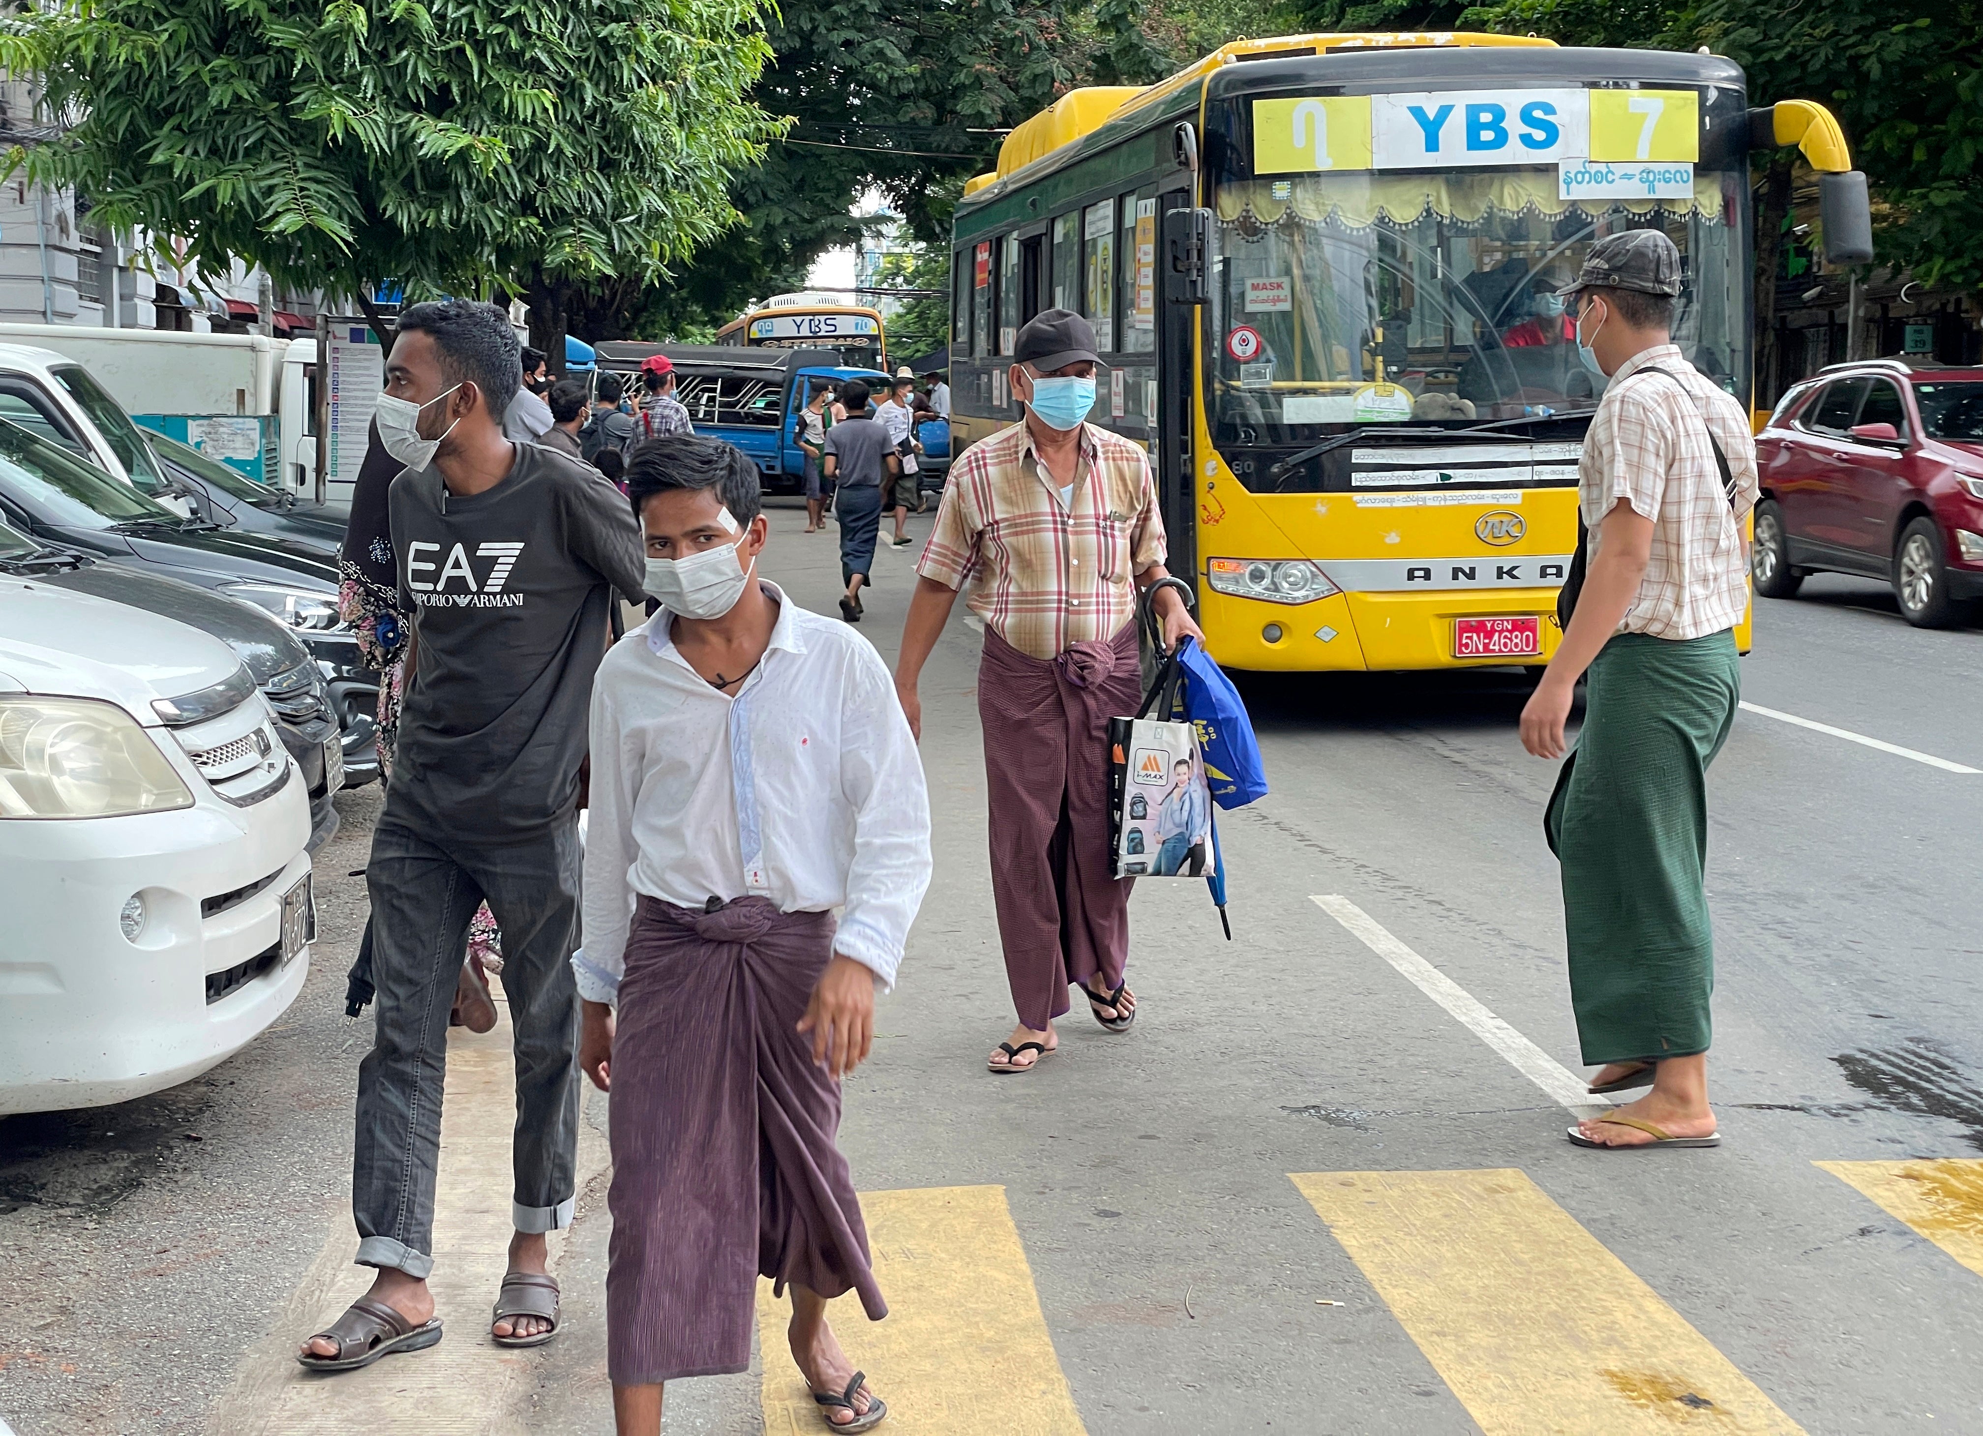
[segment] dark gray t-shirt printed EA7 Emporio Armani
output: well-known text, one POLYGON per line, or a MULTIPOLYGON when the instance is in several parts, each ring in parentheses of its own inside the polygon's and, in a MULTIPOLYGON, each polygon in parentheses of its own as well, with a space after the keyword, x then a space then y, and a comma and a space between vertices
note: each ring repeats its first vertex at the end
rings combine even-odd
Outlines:
POLYGON ((633 512, 593 468, 537 444, 518 444, 488 492, 408 470, 387 506, 418 641, 387 817, 476 843, 535 837, 579 799, 613 589, 642 601, 633 512))

